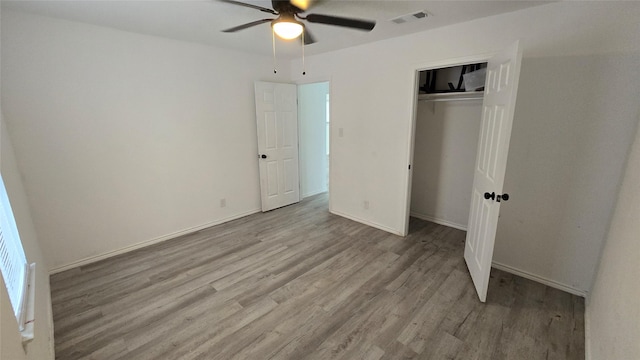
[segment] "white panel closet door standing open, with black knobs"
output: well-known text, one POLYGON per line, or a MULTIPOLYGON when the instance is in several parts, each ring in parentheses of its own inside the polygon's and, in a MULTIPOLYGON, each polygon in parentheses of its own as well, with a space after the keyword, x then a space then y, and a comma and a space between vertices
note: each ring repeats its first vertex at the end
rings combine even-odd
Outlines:
POLYGON ((489 60, 482 124, 473 177, 464 259, 480 301, 485 302, 507 167, 522 51, 518 42, 489 60))

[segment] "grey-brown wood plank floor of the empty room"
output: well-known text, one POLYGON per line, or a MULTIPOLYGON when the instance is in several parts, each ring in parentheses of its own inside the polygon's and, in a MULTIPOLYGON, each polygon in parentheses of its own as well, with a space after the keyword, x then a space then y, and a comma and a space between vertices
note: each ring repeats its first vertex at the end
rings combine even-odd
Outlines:
POLYGON ((492 270, 464 232, 402 238, 327 196, 51 277, 57 359, 584 359, 584 300, 492 270))

